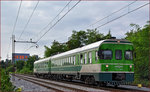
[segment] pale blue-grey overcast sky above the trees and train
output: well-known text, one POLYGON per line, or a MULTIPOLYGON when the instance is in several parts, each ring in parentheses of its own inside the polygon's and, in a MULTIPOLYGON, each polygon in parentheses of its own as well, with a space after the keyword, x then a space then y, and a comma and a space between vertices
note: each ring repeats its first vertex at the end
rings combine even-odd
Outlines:
MULTIPOLYGON (((20 1, 1 1, 1 54, 2 59, 6 59, 7 53, 11 57, 11 35, 13 31, 13 26, 18 12, 18 7, 20 1), (10 48, 9 48, 10 44, 10 48)), ((29 25, 25 29, 20 40, 29 41, 30 38, 36 41, 48 28, 41 33, 39 33, 68 3, 69 1, 40 1, 29 25)), ((54 21, 56 22, 63 14, 65 14, 68 9, 70 9, 77 1, 72 1, 60 15, 54 21)), ((136 1, 129 7, 123 9, 122 11, 113 14, 109 18, 98 22, 97 24, 87 27, 88 25, 106 17, 114 11, 130 4, 133 1, 81 1, 74 9, 72 9, 52 30, 50 30, 39 42, 39 48, 31 48, 26 51, 33 44, 16 43, 17 53, 30 53, 30 55, 39 55, 43 57, 44 55, 44 45, 49 46, 54 40, 59 42, 66 42, 68 37, 71 36, 72 30, 86 30, 92 29, 99 25, 102 25, 120 15, 127 13, 143 4, 148 3, 148 1, 136 1)), ((33 8, 35 7, 37 1, 23 1, 14 30, 16 40, 20 36, 29 16, 31 15, 33 8)), ((111 30, 111 34, 117 38, 124 38, 125 33, 128 32, 131 27, 131 23, 139 24, 141 27, 146 24, 149 20, 149 6, 145 6, 137 11, 134 11, 116 21, 113 21, 103 27, 98 28, 100 33, 107 34, 111 30)), ((54 23, 53 22, 53 23, 54 23)))

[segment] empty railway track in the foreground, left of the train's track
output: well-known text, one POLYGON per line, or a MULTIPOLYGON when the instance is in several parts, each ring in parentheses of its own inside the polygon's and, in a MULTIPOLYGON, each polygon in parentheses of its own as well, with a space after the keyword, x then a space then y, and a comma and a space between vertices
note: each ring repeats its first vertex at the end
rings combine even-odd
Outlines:
POLYGON ((64 91, 79 91, 79 92, 88 92, 88 91, 106 91, 102 89, 94 89, 89 87, 83 87, 80 85, 73 85, 73 84, 66 84, 58 81, 51 81, 51 80, 45 80, 45 79, 39 79, 34 78, 33 76, 25 76, 25 75, 19 75, 15 74, 13 75, 15 77, 18 77, 20 79, 35 83, 37 85, 43 86, 47 89, 64 92, 64 91))

